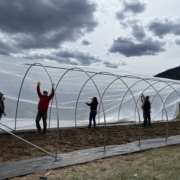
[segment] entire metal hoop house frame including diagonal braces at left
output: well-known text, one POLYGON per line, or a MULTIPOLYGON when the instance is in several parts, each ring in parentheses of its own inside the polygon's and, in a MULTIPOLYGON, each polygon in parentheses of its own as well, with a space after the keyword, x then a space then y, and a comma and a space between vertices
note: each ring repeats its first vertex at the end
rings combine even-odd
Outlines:
MULTIPOLYGON (((123 86, 126 87, 126 89, 127 89, 127 90, 124 92, 123 96, 122 96, 122 100, 121 100, 120 104, 118 105, 119 108, 118 108, 118 112, 117 112, 117 117, 118 117, 117 123, 120 122, 122 104, 123 104, 123 101, 125 100, 125 97, 126 97, 127 93, 129 92, 129 93, 131 94, 132 98, 133 98, 133 102, 135 103, 134 119, 136 118, 136 112, 137 112, 137 114, 138 114, 138 121, 139 121, 138 141, 139 141, 139 145, 141 145, 141 126, 140 126, 140 124, 141 124, 141 118, 140 118, 140 112, 139 112, 139 107, 138 107, 140 97, 138 97, 138 99, 136 100, 136 98, 135 98, 135 96, 134 96, 134 94, 133 94, 133 92, 132 92, 132 88, 133 88, 135 85, 137 85, 138 83, 144 82, 144 83, 147 84, 148 86, 147 86, 141 93, 144 93, 144 92, 145 92, 146 90, 148 90, 149 88, 152 88, 152 89, 156 92, 156 94, 154 95, 153 99, 151 100, 151 103, 153 103, 155 97, 158 95, 158 97, 160 98, 160 101, 161 101, 161 103, 162 103, 162 105, 163 105, 163 110, 165 111, 165 114, 166 114, 166 137, 165 137, 165 139, 166 139, 166 141, 167 141, 167 139, 168 139, 168 112, 167 112, 167 109, 166 109, 166 108, 167 108, 167 107, 166 107, 166 101, 167 101, 167 99, 171 96, 171 94, 174 93, 174 92, 175 92, 175 93, 178 95, 178 97, 180 98, 180 94, 178 93, 178 89, 180 89, 180 87, 178 87, 178 88, 174 88, 174 87, 173 87, 173 85, 178 85, 178 86, 180 86, 180 82, 178 82, 178 81, 171 81, 171 80, 162 80, 162 79, 158 79, 158 78, 142 78, 142 77, 134 76, 134 75, 124 75, 124 76, 121 76, 121 75, 116 75, 116 74, 109 73, 109 72, 92 72, 92 71, 85 71, 85 70, 83 70, 82 68, 63 68, 63 67, 44 66, 44 65, 42 65, 42 64, 40 64, 40 63, 26 64, 26 65, 28 65, 29 67, 28 67, 27 71, 26 71, 25 74, 24 74, 24 77, 23 77, 23 79, 22 79, 22 82, 21 82, 21 85, 20 85, 20 89, 19 89, 19 94, 18 94, 18 99, 17 99, 17 104, 16 104, 16 112, 15 112, 15 127, 14 127, 14 129, 12 129, 12 128, 9 128, 8 126, 6 126, 6 125, 4 125, 4 124, 2 124, 2 123, 0 123, 0 124, 1 124, 2 126, 4 126, 4 127, 9 128, 10 130, 17 131, 17 115, 18 115, 18 107, 19 107, 19 101, 20 101, 21 91, 22 91, 22 87, 23 87, 24 81, 25 81, 25 79, 26 79, 26 76, 27 76, 28 72, 30 71, 30 69, 31 69, 32 67, 41 67, 41 68, 46 72, 46 74, 47 74, 47 76, 48 76, 49 81, 50 81, 51 84, 53 83, 53 81, 52 81, 52 77, 50 76, 47 68, 56 68, 56 69, 65 70, 65 72, 64 72, 64 73, 61 75, 61 77, 59 78, 59 80, 58 80, 58 82, 57 82, 57 84, 56 84, 56 87, 55 87, 55 89, 54 89, 54 90, 55 90, 54 99, 55 99, 55 103, 56 103, 56 116, 57 116, 56 153, 55 153, 55 155, 53 155, 53 154, 51 154, 50 152, 47 152, 46 150, 44 150, 44 149, 42 149, 42 148, 40 148, 40 147, 38 147, 38 146, 36 146, 36 145, 34 145, 34 144, 26 141, 25 139, 20 138, 19 136, 13 134, 12 132, 9 132, 9 131, 4 130, 4 129, 2 129, 2 128, 0 128, 0 129, 2 129, 3 131, 5 131, 6 133, 9 133, 9 134, 15 136, 16 138, 19 138, 20 140, 24 141, 25 143, 28 143, 28 144, 30 144, 31 146, 33 146, 33 147, 35 147, 35 148, 37 148, 37 149, 39 149, 39 150, 47 153, 48 155, 53 156, 56 161, 58 160, 57 156, 58 156, 58 147, 59 147, 58 142, 59 142, 59 130, 60 130, 60 127, 59 127, 59 121, 60 121, 60 118, 59 118, 59 107, 58 107, 58 100, 57 100, 56 90, 57 90, 57 88, 60 86, 61 81, 63 80, 63 78, 65 77, 65 75, 68 74, 68 73, 71 72, 71 71, 76 71, 76 72, 84 73, 84 74, 87 76, 87 78, 88 78, 88 79, 82 84, 82 86, 81 86, 81 88, 80 88, 80 91, 79 91, 79 93, 78 93, 77 99, 76 99, 76 103, 75 103, 75 114, 74 114, 75 127, 77 127, 77 108, 78 108, 78 103, 79 103, 80 95, 81 95, 84 87, 86 86, 86 84, 87 84, 89 81, 91 81, 91 82, 93 83, 93 85, 94 85, 97 93, 98 93, 99 100, 100 100, 99 107, 98 107, 98 119, 99 119, 99 120, 100 120, 100 110, 101 110, 101 106, 102 106, 102 113, 103 113, 103 120, 104 120, 104 121, 103 121, 103 122, 104 122, 104 123, 103 123, 103 125, 104 125, 104 143, 103 143, 104 152, 106 151, 106 138, 107 138, 106 126, 107 126, 107 120, 106 120, 106 111, 105 111, 104 104, 103 104, 103 98, 104 98, 107 90, 111 87, 111 85, 113 85, 113 84, 114 84, 115 82, 117 82, 117 81, 120 82, 120 83, 122 83, 123 86), (89 74, 92 74, 92 75, 89 75, 89 74), (106 84, 106 87, 105 87, 105 89, 103 90, 103 92, 102 92, 102 94, 101 94, 101 93, 100 93, 100 90, 99 90, 99 87, 98 87, 97 83, 95 82, 94 78, 95 78, 96 76, 103 76, 103 75, 104 75, 104 76, 114 77, 114 79, 113 79, 111 82, 109 82, 109 84, 106 84), (126 83, 126 81, 123 80, 122 78, 128 78, 128 79, 131 78, 131 79, 136 79, 137 81, 134 82, 132 85, 129 86, 129 85, 126 83), (153 83, 150 83, 150 82, 148 82, 148 81, 153 81, 153 83), (157 90, 154 85, 155 85, 155 84, 158 84, 158 83, 164 83, 165 86, 162 87, 161 89, 157 90), (163 89, 165 89, 166 87, 170 87, 170 88, 172 89, 172 91, 171 91, 169 94, 167 94, 166 99, 163 101, 163 98, 161 97, 160 92, 161 92, 163 89)), ((53 99, 52 99, 52 101, 51 101, 50 111, 49 111, 49 128, 50 128, 52 104, 53 104, 53 99)), ((161 110, 161 111, 162 111, 162 110, 161 110)), ((160 112, 161 112, 161 111, 160 111, 160 112)), ((160 113, 160 112, 159 112, 159 113, 160 113)), ((159 114, 159 113, 158 113, 158 114, 159 114)), ((157 114, 157 115, 158 115, 158 114, 157 114)), ((156 116, 157 116, 157 115, 156 115, 156 116)), ((155 118, 155 117, 154 117, 154 118, 155 118)))

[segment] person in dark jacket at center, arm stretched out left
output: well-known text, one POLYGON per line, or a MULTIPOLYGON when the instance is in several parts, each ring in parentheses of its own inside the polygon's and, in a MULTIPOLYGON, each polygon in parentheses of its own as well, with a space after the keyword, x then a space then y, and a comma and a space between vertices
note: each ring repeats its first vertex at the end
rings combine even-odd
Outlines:
POLYGON ((98 100, 96 97, 93 97, 91 99, 91 103, 86 103, 88 106, 90 106, 90 114, 89 114, 89 126, 88 128, 91 128, 91 122, 93 120, 94 122, 94 128, 96 128, 96 114, 97 114, 97 106, 98 106, 98 100))

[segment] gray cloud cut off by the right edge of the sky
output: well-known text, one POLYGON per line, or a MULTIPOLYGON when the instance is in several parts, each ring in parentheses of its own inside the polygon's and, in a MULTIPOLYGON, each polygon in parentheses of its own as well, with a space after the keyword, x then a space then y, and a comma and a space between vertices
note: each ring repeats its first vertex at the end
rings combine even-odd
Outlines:
POLYGON ((159 38, 167 34, 180 35, 180 19, 176 21, 155 19, 149 24, 148 29, 159 38))

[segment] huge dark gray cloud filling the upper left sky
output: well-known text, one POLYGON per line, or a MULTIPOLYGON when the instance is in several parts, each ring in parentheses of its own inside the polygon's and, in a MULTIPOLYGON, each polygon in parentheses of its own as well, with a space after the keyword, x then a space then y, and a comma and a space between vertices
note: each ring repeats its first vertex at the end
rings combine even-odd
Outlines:
POLYGON ((21 49, 58 48, 97 26, 88 0, 0 1, 0 30, 21 49))

